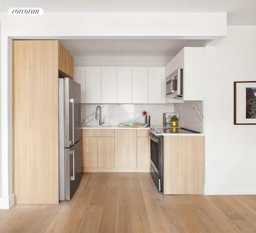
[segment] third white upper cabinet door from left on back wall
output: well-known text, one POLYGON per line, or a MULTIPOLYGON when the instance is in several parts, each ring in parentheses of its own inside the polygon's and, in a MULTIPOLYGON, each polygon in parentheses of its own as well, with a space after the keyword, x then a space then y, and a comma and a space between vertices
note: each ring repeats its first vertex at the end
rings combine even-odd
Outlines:
POLYGON ((101 67, 101 103, 116 103, 116 67, 101 67))

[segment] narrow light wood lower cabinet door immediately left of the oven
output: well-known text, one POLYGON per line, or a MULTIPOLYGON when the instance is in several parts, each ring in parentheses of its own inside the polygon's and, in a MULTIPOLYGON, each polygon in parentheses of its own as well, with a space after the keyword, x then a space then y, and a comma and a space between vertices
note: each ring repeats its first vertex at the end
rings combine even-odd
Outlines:
POLYGON ((148 152, 148 136, 137 137, 137 167, 150 168, 150 154, 148 152))

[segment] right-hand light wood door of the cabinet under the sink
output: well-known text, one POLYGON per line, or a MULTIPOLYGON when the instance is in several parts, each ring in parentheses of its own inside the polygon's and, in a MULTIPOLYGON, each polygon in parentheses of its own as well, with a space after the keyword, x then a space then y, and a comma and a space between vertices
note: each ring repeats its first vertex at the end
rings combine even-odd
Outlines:
POLYGON ((115 166, 115 138, 98 138, 98 167, 114 168, 115 166))

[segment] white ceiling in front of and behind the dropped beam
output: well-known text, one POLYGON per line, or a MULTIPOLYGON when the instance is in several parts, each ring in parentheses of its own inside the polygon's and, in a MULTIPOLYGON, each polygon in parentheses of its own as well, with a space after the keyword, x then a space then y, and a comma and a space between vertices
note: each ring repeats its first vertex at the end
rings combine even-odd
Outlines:
MULTIPOLYGON (((40 7, 44 12, 227 12, 228 25, 256 26, 256 0, 0 0, 11 7, 40 7)), ((184 46, 207 40, 80 39, 60 40, 73 56, 174 56, 184 46)))

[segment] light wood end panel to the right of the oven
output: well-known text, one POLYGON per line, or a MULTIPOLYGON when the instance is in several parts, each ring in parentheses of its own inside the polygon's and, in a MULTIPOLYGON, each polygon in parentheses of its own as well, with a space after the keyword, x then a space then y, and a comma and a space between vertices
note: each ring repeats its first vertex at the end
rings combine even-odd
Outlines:
POLYGON ((205 137, 164 136, 164 194, 204 194, 205 137))

